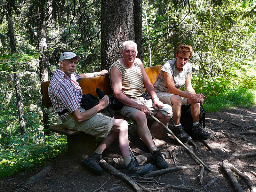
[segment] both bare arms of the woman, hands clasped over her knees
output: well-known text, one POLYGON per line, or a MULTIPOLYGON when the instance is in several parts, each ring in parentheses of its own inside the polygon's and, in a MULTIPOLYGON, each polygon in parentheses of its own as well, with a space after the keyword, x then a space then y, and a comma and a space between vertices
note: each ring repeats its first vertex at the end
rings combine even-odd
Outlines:
POLYGON ((170 93, 174 94, 174 95, 180 95, 181 97, 186 97, 188 99, 193 99, 193 100, 202 100, 204 101, 204 95, 203 94, 196 94, 194 88, 191 85, 191 75, 188 75, 186 78, 186 90, 185 91, 181 91, 180 89, 177 89, 175 87, 172 75, 169 73, 164 72, 164 79, 166 82, 166 85, 168 87, 168 89, 170 90, 170 93))

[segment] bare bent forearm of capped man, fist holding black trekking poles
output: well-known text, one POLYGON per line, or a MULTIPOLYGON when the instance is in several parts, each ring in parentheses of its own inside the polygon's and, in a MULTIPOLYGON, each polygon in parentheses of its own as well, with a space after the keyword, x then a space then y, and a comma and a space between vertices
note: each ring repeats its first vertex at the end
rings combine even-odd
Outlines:
POLYGON ((73 111, 73 115, 77 122, 82 122, 85 120, 90 119, 92 116, 94 116, 96 113, 98 113, 101 109, 104 109, 108 106, 108 95, 105 95, 101 100, 99 100, 99 104, 94 106, 93 108, 86 110, 84 112, 80 112, 79 109, 76 109, 73 111))

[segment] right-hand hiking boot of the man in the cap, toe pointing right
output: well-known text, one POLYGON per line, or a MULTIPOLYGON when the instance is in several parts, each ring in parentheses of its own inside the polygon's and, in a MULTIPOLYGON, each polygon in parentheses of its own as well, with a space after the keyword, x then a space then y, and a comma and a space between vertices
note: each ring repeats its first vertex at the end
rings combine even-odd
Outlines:
POLYGON ((135 163, 135 161, 132 159, 131 162, 126 166, 126 170, 128 172, 127 175, 134 176, 134 177, 140 177, 142 175, 145 175, 148 173, 151 169, 153 169, 152 164, 146 164, 146 165, 139 165, 135 163))

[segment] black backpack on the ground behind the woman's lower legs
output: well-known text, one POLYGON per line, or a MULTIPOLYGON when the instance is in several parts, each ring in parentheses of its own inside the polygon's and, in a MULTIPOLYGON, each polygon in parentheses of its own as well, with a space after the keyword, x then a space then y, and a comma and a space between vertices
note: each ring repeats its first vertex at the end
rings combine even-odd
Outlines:
MULTIPOLYGON (((191 115, 191 105, 182 105, 181 106, 181 116, 180 116, 180 124, 184 127, 185 132, 191 132, 191 127, 193 126, 193 118, 191 115)), ((205 128, 205 110, 203 105, 200 103, 200 115, 199 115, 199 123, 203 125, 205 128)))

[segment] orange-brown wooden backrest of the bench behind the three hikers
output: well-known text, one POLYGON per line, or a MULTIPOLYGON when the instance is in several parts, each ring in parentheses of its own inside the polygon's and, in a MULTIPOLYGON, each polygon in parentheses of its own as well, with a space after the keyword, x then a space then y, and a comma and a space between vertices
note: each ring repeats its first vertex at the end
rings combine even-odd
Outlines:
MULTIPOLYGON (((153 84, 156 81, 156 78, 161 70, 162 66, 152 66, 145 68, 146 73, 148 74, 148 78, 150 82, 153 84)), ((43 94, 44 106, 45 107, 52 107, 52 102, 48 95, 48 86, 50 81, 41 82, 41 89, 43 94)), ((80 87, 82 88, 83 94, 91 93, 95 97, 97 96, 96 88, 100 87, 104 94, 110 95, 113 93, 110 87, 110 80, 109 76, 96 76, 96 77, 89 77, 89 78, 81 78, 78 81, 80 87)))

